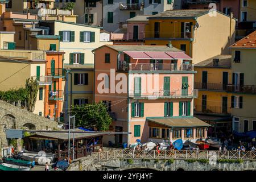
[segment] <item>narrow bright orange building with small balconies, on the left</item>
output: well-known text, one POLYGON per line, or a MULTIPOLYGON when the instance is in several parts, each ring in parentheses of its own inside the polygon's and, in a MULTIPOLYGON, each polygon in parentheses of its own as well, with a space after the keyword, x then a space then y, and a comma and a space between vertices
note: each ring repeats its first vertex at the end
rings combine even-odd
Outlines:
POLYGON ((45 92, 45 115, 54 117, 58 121, 63 107, 63 55, 65 52, 46 51, 46 73, 52 76, 52 84, 46 86, 45 92))

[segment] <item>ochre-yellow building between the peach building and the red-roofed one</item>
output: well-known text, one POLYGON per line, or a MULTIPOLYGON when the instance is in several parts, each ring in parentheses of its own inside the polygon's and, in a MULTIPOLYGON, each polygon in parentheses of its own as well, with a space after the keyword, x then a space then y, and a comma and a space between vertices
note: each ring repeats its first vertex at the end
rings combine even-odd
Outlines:
POLYGON ((195 64, 195 116, 212 127, 209 136, 221 132, 231 133, 231 94, 226 92, 232 84, 231 55, 217 55, 195 64))

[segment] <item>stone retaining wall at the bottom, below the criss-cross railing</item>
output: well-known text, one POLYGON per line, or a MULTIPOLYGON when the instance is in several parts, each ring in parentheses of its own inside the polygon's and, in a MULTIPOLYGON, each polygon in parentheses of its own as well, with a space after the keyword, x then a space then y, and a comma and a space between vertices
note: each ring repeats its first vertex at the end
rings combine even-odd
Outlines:
POLYGON ((106 162, 93 162, 90 158, 81 158, 71 164, 68 171, 122 171, 133 168, 147 168, 157 171, 245 171, 255 170, 256 161, 243 161, 243 163, 189 163, 185 160, 174 160, 174 163, 168 163, 167 160, 143 160, 131 159, 130 162, 126 159, 109 160, 106 162))

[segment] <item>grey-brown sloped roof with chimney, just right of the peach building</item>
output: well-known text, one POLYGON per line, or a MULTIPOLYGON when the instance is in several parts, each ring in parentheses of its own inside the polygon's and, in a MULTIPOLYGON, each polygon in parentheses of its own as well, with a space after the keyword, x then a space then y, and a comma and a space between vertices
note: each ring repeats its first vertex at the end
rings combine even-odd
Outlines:
POLYGON ((195 67, 231 68, 231 55, 217 55, 195 64, 195 67), (213 59, 219 59, 218 65, 213 65, 213 59))

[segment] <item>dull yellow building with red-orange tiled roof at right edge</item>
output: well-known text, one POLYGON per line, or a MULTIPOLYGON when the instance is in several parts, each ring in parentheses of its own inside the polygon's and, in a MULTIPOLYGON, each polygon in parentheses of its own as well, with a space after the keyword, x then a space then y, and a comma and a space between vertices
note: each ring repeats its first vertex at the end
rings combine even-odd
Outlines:
POLYGON ((256 130, 256 31, 233 44, 232 94, 233 130, 256 130))

